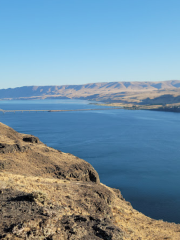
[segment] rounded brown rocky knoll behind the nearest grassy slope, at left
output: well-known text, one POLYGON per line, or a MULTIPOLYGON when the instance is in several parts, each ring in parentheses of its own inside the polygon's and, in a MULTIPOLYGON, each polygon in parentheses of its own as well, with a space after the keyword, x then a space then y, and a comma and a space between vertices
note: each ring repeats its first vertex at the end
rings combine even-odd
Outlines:
POLYGON ((37 137, 0 124, 0 169, 11 173, 99 183, 95 169, 71 154, 47 147, 37 137), (12 153, 12 160, 6 154, 12 153), (21 155, 19 153, 22 153, 21 155))

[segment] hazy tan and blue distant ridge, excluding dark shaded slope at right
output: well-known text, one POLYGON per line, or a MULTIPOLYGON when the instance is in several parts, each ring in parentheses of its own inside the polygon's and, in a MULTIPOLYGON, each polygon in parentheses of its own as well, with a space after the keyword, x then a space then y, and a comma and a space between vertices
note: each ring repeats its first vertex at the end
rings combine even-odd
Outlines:
MULTIPOLYGON (((24 86, 0 89, 0 100, 6 99, 45 99, 45 98, 79 98, 105 101, 121 100, 122 96, 133 96, 135 93, 180 92, 180 80, 160 82, 101 82, 83 85, 61 86, 24 86)), ((158 95, 159 96, 159 95, 158 95)), ((127 101, 127 99, 126 99, 127 101)))

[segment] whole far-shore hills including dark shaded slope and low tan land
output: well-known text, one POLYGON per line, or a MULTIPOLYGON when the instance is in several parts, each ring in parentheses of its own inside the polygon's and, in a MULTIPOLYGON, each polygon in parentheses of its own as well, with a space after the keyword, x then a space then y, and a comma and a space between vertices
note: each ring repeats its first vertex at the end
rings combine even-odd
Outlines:
POLYGON ((140 105, 172 104, 180 102, 180 81, 108 82, 0 89, 0 100, 46 98, 76 98, 105 103, 140 105))

